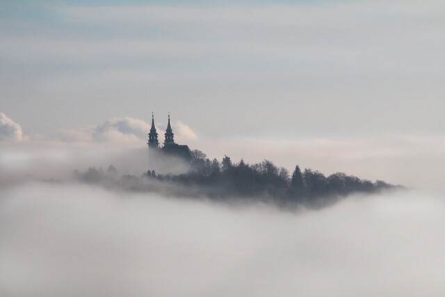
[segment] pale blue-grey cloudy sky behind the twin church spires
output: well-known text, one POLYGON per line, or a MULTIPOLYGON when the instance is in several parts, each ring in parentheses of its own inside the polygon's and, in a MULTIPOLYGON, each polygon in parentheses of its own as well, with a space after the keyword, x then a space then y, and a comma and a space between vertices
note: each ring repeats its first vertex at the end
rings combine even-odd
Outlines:
POLYGON ((218 159, 443 188, 444 15, 433 0, 2 1, 0 138, 143 147, 170 112, 178 142, 218 159))

